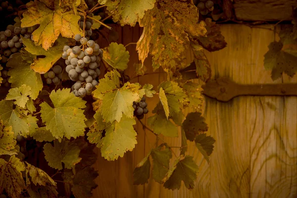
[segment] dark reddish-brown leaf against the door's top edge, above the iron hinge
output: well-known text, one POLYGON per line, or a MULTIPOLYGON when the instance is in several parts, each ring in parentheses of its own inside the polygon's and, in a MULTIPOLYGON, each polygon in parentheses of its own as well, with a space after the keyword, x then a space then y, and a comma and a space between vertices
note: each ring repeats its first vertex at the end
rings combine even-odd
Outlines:
POLYGON ((211 18, 205 19, 206 36, 198 38, 199 44, 208 51, 217 51, 227 46, 225 37, 221 34, 220 26, 211 21, 211 18))

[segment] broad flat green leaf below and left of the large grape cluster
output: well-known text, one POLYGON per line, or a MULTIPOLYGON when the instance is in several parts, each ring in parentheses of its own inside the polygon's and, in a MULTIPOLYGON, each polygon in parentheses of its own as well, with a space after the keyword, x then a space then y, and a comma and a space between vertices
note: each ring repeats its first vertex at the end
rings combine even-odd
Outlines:
POLYGON ((64 136, 67 139, 84 136, 86 117, 81 108, 86 107, 86 101, 74 96, 70 89, 53 90, 49 98, 54 108, 43 102, 40 104, 40 112, 52 136, 59 140, 64 136))

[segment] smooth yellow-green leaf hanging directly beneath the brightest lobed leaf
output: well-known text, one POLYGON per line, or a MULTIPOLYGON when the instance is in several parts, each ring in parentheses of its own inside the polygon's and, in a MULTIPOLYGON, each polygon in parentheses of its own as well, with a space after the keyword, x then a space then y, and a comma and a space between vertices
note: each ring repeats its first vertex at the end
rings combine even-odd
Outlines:
POLYGON ((132 151, 137 144, 137 133, 133 128, 135 124, 134 118, 123 116, 120 122, 114 121, 107 127, 105 137, 99 143, 102 157, 115 160, 119 156, 123 157, 126 151, 132 151))

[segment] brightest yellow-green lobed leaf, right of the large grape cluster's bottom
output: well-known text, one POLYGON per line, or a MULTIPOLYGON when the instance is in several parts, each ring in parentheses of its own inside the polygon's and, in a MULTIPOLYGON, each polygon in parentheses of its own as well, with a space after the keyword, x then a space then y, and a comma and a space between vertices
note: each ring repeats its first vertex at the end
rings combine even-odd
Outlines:
POLYGON ((140 100, 144 90, 137 84, 125 83, 120 88, 119 73, 117 71, 107 72, 105 78, 99 80, 97 90, 93 92, 94 97, 101 99, 100 111, 105 122, 119 122, 123 113, 133 118, 133 102, 140 100))

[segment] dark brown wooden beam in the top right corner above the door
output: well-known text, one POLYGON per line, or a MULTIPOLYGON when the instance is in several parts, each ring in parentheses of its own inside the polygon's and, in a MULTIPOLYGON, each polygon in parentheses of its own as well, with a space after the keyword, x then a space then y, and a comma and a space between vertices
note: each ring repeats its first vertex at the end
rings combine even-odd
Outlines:
POLYGON ((235 0, 234 10, 238 20, 280 21, 292 20, 296 0, 235 0))

